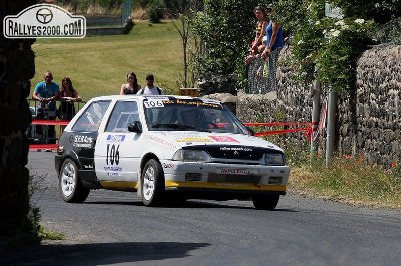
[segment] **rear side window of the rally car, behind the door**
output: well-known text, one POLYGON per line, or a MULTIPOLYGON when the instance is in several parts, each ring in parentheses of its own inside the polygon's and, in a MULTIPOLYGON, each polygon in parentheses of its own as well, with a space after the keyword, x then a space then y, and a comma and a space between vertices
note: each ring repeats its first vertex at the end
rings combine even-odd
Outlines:
POLYGON ((92 102, 78 118, 72 131, 97 132, 111 101, 92 102))

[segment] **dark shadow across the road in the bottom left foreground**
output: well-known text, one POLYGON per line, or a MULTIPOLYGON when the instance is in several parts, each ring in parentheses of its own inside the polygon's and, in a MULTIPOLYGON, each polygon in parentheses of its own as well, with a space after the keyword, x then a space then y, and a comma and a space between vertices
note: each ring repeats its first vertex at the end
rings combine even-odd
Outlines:
MULTIPOLYGON (((195 249, 208 243, 96 243, 50 244, 32 246, 3 254, 1 265, 106 265, 138 261, 164 260, 190 256, 195 249)), ((166 262, 168 263, 168 262, 166 262)))

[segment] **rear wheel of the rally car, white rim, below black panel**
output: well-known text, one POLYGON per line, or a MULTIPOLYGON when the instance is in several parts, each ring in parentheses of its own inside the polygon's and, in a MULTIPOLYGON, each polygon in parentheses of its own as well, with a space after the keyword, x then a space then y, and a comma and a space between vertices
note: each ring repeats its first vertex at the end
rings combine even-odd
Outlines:
POLYGON ((82 203, 89 195, 89 189, 82 186, 78 168, 71 159, 65 159, 61 166, 59 190, 61 198, 69 203, 82 203))

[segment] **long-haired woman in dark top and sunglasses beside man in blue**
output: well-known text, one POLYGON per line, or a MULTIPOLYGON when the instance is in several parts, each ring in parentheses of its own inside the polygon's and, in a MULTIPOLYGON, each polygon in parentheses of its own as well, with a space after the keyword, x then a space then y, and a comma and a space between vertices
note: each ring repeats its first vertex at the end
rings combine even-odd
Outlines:
MULTIPOLYGON (((61 88, 60 88, 60 102, 59 107, 59 119, 71 121, 71 119, 75 116, 75 102, 81 101, 81 95, 79 95, 78 90, 76 90, 72 86, 72 81, 69 77, 64 77, 61 80, 61 88)), ((61 126, 64 130, 65 126, 61 126)))

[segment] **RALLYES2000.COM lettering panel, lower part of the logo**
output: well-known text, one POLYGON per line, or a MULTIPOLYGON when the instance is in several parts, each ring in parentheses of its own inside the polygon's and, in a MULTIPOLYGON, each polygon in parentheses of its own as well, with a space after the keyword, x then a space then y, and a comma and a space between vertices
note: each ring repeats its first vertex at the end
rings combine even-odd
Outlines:
POLYGON ((82 35, 83 27, 81 25, 81 21, 76 21, 73 23, 65 24, 64 26, 32 26, 20 24, 17 22, 13 22, 11 20, 8 21, 8 25, 6 27, 8 36, 63 36, 63 35, 82 35))

